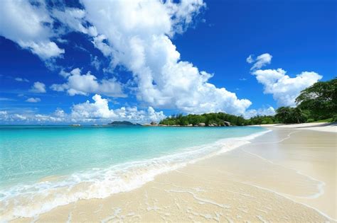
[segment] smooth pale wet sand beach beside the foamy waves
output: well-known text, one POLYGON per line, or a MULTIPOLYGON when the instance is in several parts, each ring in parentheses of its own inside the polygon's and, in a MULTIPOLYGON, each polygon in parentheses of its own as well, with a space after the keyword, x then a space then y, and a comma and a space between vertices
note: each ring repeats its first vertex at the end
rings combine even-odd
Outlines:
POLYGON ((336 133, 272 130, 136 190, 17 221, 334 222, 336 133))

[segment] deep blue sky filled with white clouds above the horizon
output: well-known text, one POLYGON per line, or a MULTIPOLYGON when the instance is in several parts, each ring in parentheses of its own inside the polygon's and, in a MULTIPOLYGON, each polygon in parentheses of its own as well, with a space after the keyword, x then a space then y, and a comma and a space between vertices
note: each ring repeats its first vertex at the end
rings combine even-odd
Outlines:
POLYGON ((337 1, 1 1, 0 124, 273 115, 336 77, 337 1))

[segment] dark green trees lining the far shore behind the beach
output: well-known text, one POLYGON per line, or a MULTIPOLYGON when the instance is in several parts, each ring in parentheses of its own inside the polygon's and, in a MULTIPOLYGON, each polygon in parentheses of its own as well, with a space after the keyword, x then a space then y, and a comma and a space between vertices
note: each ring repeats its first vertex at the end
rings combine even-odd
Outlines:
POLYGON ((161 120, 161 125, 199 125, 225 126, 231 125, 262 125, 274 123, 303 123, 337 121, 337 79, 319 81, 301 91, 296 98, 296 107, 277 108, 275 115, 255 116, 245 119, 242 116, 227 113, 205 113, 202 115, 171 115, 161 120))

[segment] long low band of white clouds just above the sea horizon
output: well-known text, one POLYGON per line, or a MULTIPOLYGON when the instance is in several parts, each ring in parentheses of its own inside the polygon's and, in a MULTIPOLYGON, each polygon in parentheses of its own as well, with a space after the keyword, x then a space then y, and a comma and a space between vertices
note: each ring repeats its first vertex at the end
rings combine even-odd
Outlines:
MULTIPOLYGON (((36 100, 36 98, 33 98, 33 100, 36 100)), ((137 107, 112 109, 109 108, 108 100, 98 94, 92 96, 92 100, 93 102, 86 101, 73 105, 70 113, 65 113, 61 108, 57 108, 50 114, 36 114, 31 111, 25 112, 25 110, 22 113, 10 113, 6 110, 0 110, 0 121, 3 123, 96 122, 107 124, 115 120, 128 120, 135 123, 159 122, 166 118, 163 111, 156 111, 151 106, 144 110, 139 110, 137 107)))

